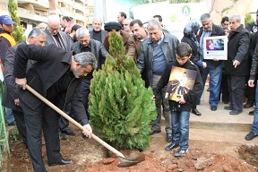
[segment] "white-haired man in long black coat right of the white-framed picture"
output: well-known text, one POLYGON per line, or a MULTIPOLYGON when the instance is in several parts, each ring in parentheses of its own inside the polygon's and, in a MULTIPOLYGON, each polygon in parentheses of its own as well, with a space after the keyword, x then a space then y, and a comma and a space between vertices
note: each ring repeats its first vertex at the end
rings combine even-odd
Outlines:
POLYGON ((240 15, 229 15, 230 33, 228 35, 228 60, 224 62, 225 73, 228 74, 229 107, 225 107, 230 115, 243 112, 245 76, 248 75, 249 31, 241 24, 240 15))

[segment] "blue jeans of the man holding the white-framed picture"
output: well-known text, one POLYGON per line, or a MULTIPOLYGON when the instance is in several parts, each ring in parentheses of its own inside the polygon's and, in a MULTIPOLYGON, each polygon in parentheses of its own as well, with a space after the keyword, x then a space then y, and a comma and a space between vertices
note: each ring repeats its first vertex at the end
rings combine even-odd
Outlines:
MULTIPOLYGON (((205 87, 205 82, 207 80, 208 73, 210 73, 209 103, 212 107, 217 107, 219 104, 220 85, 221 85, 221 78, 222 78, 222 64, 220 64, 215 68, 213 64, 209 64, 209 62, 207 63, 207 67, 203 69, 201 73, 203 88, 205 87)), ((200 104, 201 97, 202 97, 202 94, 200 94, 197 104, 200 104)))

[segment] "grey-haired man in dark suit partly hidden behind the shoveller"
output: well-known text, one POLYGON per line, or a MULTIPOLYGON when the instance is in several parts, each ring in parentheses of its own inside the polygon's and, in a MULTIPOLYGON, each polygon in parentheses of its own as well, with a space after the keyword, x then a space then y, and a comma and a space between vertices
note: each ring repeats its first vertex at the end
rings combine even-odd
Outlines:
MULTIPOLYGON (((20 107, 19 95, 15 92, 18 86, 15 83, 15 80, 13 77, 14 56, 15 56, 16 49, 19 45, 34 44, 34 45, 44 46, 45 41, 46 41, 46 33, 43 30, 40 30, 39 28, 33 28, 28 35, 28 39, 16 46, 10 47, 7 50, 7 53, 5 56, 5 69, 4 69, 5 87, 4 87, 2 105, 4 107, 8 107, 13 110, 13 116, 19 131, 19 135, 22 138, 22 142, 25 144, 26 147, 27 147, 27 136, 26 136, 25 121, 24 121, 22 108, 20 107)), ((32 61, 28 62, 27 69, 30 68, 32 63, 33 63, 32 61)))

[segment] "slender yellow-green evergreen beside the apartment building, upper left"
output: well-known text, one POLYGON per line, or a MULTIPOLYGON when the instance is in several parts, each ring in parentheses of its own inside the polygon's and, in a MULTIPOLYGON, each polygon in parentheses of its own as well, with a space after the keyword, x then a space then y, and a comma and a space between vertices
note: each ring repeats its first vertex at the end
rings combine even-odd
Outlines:
POLYGON ((18 5, 17 3, 13 2, 13 0, 9 0, 8 3, 8 10, 11 14, 11 18, 13 20, 13 32, 12 32, 12 36, 13 39, 15 39, 16 43, 20 43, 23 40, 26 39, 25 36, 23 35, 23 26, 21 25, 21 21, 20 21, 20 17, 17 15, 17 8, 18 5))

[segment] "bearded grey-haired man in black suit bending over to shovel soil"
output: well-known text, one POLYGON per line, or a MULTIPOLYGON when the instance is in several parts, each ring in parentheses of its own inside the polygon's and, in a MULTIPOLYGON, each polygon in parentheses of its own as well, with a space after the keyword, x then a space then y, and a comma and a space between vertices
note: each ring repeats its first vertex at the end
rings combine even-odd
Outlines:
POLYGON ((63 159, 60 153, 58 138, 59 115, 40 99, 26 90, 26 83, 56 107, 65 109, 68 103, 74 107, 77 121, 83 125, 83 131, 90 137, 92 133, 85 109, 82 104, 80 84, 82 76, 86 76, 97 66, 97 60, 91 53, 72 52, 49 45, 20 45, 14 59, 13 76, 22 88, 19 90, 27 128, 28 150, 33 168, 36 172, 46 172, 41 156, 41 130, 46 140, 47 162, 49 166, 65 165, 72 159, 63 159), (29 59, 37 61, 26 73, 29 59))

